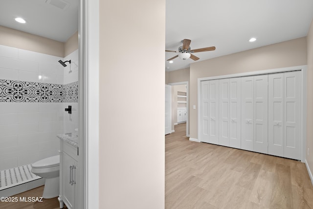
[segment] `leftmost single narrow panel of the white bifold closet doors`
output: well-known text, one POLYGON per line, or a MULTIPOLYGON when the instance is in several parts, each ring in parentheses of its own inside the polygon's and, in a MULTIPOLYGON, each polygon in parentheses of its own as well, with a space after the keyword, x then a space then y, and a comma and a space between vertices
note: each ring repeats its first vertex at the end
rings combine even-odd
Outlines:
POLYGON ((201 141, 209 142, 209 81, 201 81, 201 141))

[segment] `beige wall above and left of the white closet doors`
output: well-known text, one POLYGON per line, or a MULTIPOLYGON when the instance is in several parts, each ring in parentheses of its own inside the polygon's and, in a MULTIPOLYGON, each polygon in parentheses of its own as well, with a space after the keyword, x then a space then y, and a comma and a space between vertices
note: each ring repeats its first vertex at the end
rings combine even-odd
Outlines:
POLYGON ((198 139, 198 110, 190 108, 193 105, 197 107, 198 104, 198 78, 306 64, 307 42, 305 37, 192 63, 189 88, 190 137, 198 139))

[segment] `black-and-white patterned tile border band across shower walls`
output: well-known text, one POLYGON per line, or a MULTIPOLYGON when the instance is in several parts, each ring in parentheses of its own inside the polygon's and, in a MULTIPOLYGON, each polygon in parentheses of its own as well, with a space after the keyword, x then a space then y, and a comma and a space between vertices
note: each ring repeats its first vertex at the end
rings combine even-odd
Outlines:
POLYGON ((78 102, 78 81, 62 85, 0 80, 0 102, 78 102))

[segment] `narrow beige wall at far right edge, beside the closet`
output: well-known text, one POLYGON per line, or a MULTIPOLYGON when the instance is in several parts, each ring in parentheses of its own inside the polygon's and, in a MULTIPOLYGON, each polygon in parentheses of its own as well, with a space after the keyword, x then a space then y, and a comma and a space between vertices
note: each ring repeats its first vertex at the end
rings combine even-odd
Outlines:
POLYGON ((307 95, 307 149, 310 149, 310 154, 307 152, 307 162, 313 173, 313 21, 311 23, 307 36, 307 51, 308 51, 308 95, 307 95))

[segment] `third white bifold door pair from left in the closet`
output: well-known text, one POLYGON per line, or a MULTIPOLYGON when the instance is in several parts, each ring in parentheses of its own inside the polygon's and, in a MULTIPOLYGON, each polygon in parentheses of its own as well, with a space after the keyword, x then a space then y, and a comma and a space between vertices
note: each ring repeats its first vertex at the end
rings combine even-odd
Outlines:
POLYGON ((242 77, 241 148, 268 153, 268 75, 242 77))

